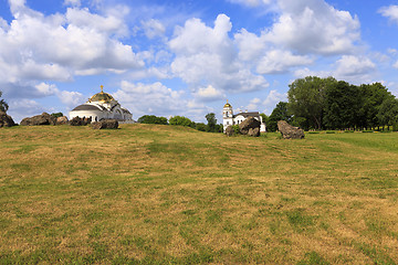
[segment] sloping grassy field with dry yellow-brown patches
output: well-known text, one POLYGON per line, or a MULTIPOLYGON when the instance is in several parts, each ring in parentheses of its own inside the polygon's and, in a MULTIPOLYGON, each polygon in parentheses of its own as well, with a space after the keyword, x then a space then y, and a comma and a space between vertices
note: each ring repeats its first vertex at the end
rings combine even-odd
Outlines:
POLYGON ((398 134, 0 129, 0 264, 397 264, 398 134))

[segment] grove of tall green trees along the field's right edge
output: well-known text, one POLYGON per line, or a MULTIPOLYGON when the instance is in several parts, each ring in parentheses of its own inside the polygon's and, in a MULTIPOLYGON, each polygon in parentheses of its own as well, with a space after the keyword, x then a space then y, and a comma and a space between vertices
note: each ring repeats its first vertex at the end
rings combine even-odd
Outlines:
POLYGON ((280 102, 263 117, 269 131, 276 130, 280 119, 305 130, 398 129, 398 99, 380 83, 352 85, 307 76, 289 87, 289 102, 280 102))

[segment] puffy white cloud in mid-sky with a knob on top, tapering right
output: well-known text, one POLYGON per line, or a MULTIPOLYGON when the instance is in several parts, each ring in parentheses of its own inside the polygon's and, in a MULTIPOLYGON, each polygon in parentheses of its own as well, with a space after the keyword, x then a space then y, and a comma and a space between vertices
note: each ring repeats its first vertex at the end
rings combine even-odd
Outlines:
POLYGON ((253 74, 237 56, 233 41, 228 33, 232 24, 226 14, 219 14, 214 26, 207 26, 199 19, 188 20, 177 26, 169 47, 176 57, 172 73, 188 83, 193 93, 211 85, 222 92, 263 89, 263 76, 253 74))

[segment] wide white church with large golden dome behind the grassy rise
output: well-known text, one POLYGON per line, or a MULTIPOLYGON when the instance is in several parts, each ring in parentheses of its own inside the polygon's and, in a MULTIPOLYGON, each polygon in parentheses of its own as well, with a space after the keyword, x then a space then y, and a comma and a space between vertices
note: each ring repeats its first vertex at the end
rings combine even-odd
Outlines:
POLYGON ((112 95, 104 93, 104 86, 101 86, 101 92, 92 96, 85 104, 78 105, 70 112, 70 119, 74 117, 92 118, 92 121, 102 119, 133 121, 133 114, 123 108, 112 95))

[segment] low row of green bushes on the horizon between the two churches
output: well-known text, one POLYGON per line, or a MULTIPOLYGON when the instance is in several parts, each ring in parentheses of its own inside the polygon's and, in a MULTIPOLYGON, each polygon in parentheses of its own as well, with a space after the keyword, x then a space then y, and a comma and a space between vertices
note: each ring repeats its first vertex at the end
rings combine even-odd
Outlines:
POLYGON ((217 124, 216 114, 209 113, 206 115, 207 124, 203 123, 195 123, 187 117, 184 116, 174 116, 169 119, 165 117, 157 117, 155 115, 144 115, 138 118, 138 123, 140 124, 159 124, 159 125, 178 125, 190 127, 200 131, 208 132, 222 132, 223 127, 221 124, 217 124))

